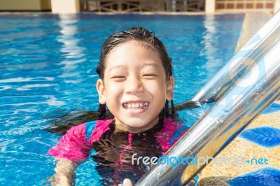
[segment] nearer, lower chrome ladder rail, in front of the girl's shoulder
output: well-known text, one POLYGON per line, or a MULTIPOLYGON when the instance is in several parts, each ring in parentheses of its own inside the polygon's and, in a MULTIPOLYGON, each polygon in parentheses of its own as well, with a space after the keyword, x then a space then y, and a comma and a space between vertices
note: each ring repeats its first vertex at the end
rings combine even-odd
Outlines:
MULTIPOLYGON (((279 27, 279 22, 276 27, 279 27)), ((263 41, 264 45, 269 45, 269 48, 262 52, 264 55, 260 55, 255 60, 255 65, 244 76, 236 79, 215 105, 172 146, 166 154, 167 157, 216 157, 249 122, 280 95, 280 36, 277 36, 278 38, 275 38, 270 35, 263 41), (271 37, 275 40, 272 41, 271 37)), ((251 50, 252 53, 260 52, 258 48, 251 50)), ((238 71, 227 73, 227 79, 235 78, 235 73, 238 71)), ((172 166, 174 165, 155 165, 137 185, 186 185, 206 166, 206 162, 198 161, 194 165, 185 162, 175 168, 172 166)))

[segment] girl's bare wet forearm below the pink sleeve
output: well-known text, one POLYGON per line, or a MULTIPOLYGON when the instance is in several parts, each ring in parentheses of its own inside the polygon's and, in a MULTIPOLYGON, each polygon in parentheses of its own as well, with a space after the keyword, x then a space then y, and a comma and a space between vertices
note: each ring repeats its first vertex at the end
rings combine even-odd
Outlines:
POLYGON ((75 185, 75 170, 78 164, 64 158, 56 158, 55 160, 57 160, 55 174, 48 179, 50 185, 75 185))

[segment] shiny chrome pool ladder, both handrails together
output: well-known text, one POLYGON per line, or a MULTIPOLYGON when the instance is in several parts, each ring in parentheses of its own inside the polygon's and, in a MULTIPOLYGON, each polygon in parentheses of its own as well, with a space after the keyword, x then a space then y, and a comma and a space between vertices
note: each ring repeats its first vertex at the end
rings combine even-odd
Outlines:
MULTIPOLYGON (((262 110, 279 97, 279 52, 280 11, 193 97, 194 103, 216 103, 188 133, 181 136, 166 155, 216 157, 262 110)), ((137 185, 186 185, 204 166, 206 164, 178 164, 173 169, 172 164, 157 164, 137 185)))

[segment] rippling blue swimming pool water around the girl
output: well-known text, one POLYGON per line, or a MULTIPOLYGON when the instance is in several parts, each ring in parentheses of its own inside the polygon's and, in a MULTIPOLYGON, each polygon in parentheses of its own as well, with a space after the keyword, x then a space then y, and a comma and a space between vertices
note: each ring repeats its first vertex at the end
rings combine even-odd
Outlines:
MULTIPOLYGON (((105 39, 127 27, 155 31, 173 59, 174 101, 191 99, 235 52, 244 15, 0 16, 0 185, 45 185, 59 136, 47 118, 97 110, 95 68, 105 39)), ((183 110, 191 126, 209 106, 183 110)), ((77 185, 95 185, 94 162, 76 171, 77 185)))

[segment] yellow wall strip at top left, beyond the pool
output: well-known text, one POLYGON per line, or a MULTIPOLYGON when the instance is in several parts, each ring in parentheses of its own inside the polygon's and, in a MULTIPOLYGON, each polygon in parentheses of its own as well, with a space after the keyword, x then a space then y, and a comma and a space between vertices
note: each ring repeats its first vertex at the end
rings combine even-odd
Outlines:
POLYGON ((50 10, 50 0, 0 0, 0 10, 50 10))

